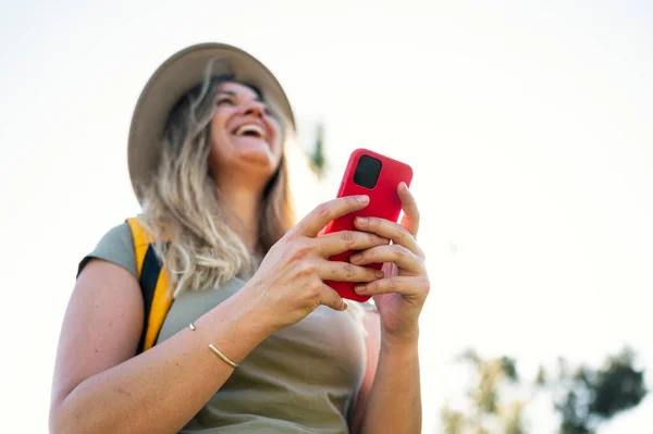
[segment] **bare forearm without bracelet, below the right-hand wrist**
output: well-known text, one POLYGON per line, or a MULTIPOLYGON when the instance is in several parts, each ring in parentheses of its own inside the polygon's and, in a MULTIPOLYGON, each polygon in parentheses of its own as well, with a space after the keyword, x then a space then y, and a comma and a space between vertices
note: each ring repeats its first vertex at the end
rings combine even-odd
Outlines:
POLYGON ((381 339, 361 433, 421 433, 418 339, 381 339))

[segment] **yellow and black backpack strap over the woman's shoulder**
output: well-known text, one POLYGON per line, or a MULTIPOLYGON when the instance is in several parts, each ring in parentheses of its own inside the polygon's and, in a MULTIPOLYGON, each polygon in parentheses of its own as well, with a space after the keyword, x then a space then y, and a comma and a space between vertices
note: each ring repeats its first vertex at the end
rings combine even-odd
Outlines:
POLYGON ((138 350, 136 354, 153 347, 159 332, 165 320, 165 315, 172 306, 170 295, 170 273, 162 266, 155 251, 155 239, 136 218, 127 219, 132 236, 134 238, 134 250, 136 252, 136 272, 143 294, 144 326, 138 350))

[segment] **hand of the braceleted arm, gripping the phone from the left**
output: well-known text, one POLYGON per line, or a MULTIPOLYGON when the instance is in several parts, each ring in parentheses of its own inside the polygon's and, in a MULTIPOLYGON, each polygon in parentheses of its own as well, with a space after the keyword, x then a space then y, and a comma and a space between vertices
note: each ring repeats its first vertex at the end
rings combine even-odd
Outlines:
POLYGON ((389 243, 387 238, 359 231, 317 236, 333 219, 364 209, 368 203, 367 196, 322 203, 272 246, 243 289, 271 322, 273 331, 300 321, 320 305, 345 310, 346 302, 323 283, 325 280, 372 282, 384 276, 382 271, 328 258, 349 249, 381 246, 389 243))

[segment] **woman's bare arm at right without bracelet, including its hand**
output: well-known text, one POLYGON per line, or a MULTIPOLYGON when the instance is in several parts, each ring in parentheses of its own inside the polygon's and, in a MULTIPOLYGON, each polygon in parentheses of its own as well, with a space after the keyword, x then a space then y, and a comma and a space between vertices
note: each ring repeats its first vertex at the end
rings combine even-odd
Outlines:
POLYGON ((424 253, 415 239, 419 226, 417 203, 406 185, 399 185, 397 193, 405 211, 401 224, 375 218, 356 221, 361 231, 393 244, 373 247, 350 259, 358 265, 384 263, 385 271, 385 278, 356 286, 358 294, 374 297, 379 314, 373 321, 369 315, 366 320, 368 358, 378 357, 378 363, 368 360, 354 432, 359 426, 362 433, 421 431, 419 315, 430 282, 424 253))

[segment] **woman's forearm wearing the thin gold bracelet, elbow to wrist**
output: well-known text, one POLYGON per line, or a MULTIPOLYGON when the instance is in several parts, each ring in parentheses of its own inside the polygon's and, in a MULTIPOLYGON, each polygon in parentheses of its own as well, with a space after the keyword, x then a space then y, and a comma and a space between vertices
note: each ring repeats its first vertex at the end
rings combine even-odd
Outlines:
POLYGON ((198 319, 196 331, 186 327, 82 382, 53 409, 51 431, 178 432, 233 371, 209 344, 238 361, 267 335, 263 324, 255 320, 256 313, 239 312, 233 301, 226 300, 198 319))

